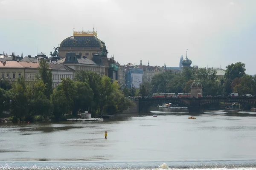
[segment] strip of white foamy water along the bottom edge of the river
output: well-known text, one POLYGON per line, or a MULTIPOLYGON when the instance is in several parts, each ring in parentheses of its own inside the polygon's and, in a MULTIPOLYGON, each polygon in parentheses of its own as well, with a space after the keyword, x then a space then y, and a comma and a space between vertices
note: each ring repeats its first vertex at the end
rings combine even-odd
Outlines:
POLYGON ((226 165, 201 164, 201 166, 176 165, 172 167, 169 167, 166 163, 160 164, 160 166, 156 167, 146 165, 140 166, 139 164, 138 162, 130 162, 129 164, 125 162, 115 162, 113 164, 105 162, 105 165, 102 165, 102 162, 17 162, 0 163, 0 170, 256 170, 255 163, 226 165), (120 166, 121 164, 123 164, 123 166, 120 166))

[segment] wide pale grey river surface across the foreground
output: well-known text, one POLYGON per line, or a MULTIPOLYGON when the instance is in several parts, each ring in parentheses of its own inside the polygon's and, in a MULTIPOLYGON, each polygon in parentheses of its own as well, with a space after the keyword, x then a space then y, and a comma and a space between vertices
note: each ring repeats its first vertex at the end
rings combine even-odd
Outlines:
POLYGON ((0 170, 256 170, 256 114, 189 116, 152 111, 103 122, 0 124, 0 170))

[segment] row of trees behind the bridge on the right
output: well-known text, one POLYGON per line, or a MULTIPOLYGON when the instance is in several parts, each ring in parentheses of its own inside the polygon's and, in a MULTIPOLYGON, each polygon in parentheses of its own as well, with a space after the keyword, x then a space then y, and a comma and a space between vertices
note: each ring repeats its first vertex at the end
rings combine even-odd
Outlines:
POLYGON ((189 93, 193 82, 203 86, 203 96, 226 96, 231 93, 256 95, 256 76, 245 74, 245 64, 236 62, 226 67, 224 77, 218 77, 213 68, 183 68, 181 73, 172 70, 154 75, 151 83, 145 82, 140 88, 124 89, 125 96, 150 96, 153 93, 189 93))

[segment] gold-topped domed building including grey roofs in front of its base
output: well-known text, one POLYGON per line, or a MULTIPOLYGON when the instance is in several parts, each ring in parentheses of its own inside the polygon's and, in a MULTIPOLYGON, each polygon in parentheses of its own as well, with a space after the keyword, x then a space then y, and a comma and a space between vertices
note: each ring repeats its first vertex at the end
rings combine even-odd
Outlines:
POLYGON ((74 70, 96 71, 108 76, 109 59, 105 42, 97 37, 97 31, 73 31, 58 47, 58 57, 74 70), (104 71, 102 69, 104 68, 104 71))

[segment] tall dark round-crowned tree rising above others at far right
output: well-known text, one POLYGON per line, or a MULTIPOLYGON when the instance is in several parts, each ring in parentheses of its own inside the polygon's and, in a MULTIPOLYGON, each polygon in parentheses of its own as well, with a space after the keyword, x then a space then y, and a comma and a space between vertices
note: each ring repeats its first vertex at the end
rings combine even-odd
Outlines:
POLYGON ((228 65, 225 73, 226 79, 235 79, 236 77, 243 77, 245 74, 245 64, 241 62, 236 62, 235 64, 228 65))

